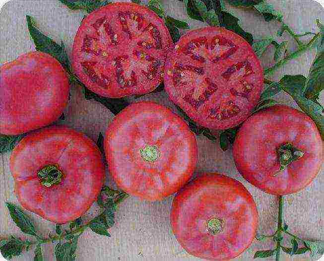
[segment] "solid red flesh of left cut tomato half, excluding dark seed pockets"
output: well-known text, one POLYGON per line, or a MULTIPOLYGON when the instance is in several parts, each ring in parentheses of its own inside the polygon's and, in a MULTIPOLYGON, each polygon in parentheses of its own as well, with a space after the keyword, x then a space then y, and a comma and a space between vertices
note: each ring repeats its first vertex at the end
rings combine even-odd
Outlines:
MULTIPOLYGON (((145 24, 143 28, 146 26, 145 24)), ((141 28, 140 30, 143 30, 141 28)), ((100 29, 99 29, 100 31, 100 29)), ((112 40, 112 39, 110 39, 112 40)), ((92 40, 93 41, 93 40, 92 40)), ((90 42, 89 42, 90 43, 90 42)), ((90 45, 90 44, 89 44, 90 45)), ((163 19, 161 19, 155 12, 150 10, 149 8, 131 2, 114 2, 110 3, 106 6, 103 6, 91 14, 89 14, 84 20, 74 38, 73 43, 73 51, 72 51, 72 66, 73 69, 78 76, 78 78, 93 92, 111 98, 121 98, 130 95, 141 95, 145 93, 152 92, 163 80, 163 70, 164 70, 164 62, 167 57, 167 52, 173 46, 172 38, 169 33, 168 28, 165 26, 163 19), (156 28, 158 28, 160 36, 161 36, 161 49, 160 50, 150 50, 143 49, 138 47, 136 41, 145 40, 140 37, 134 37, 134 39, 129 40, 126 37, 126 33, 118 20, 118 15, 120 12, 132 12, 138 13, 142 15, 145 20, 152 23, 156 28), (116 45, 112 43, 105 43, 105 49, 101 50, 100 46, 103 41, 107 41, 107 36, 99 36, 94 32, 93 25, 103 17, 108 17, 108 23, 111 26, 113 34, 116 34, 117 42, 116 45), (97 54, 91 54, 84 51, 84 43, 85 37, 90 36, 92 39, 97 38, 99 41, 96 43, 96 49, 100 49, 97 54), (105 40, 103 40, 105 39, 105 40), (117 79, 117 71, 116 71, 116 58, 122 56, 129 56, 130 58, 134 57, 132 51, 147 51, 152 52, 149 53, 155 58, 158 58, 161 66, 158 68, 157 76, 154 76, 152 80, 146 79, 145 75, 137 75, 137 84, 134 86, 119 86, 117 79), (103 55, 103 53, 105 53, 103 55), (109 78, 109 84, 107 86, 101 86, 95 80, 91 79, 87 74, 86 70, 82 66, 82 62, 95 62, 95 71, 97 76, 100 76, 100 73, 105 74, 105 77, 109 78), (115 64, 112 66, 112 64, 115 64), (162 75, 162 76, 161 76, 162 75)), ((92 51, 93 52, 93 51, 92 51)), ((140 67, 141 61, 133 60, 132 62, 136 67, 140 67)), ((124 69, 124 68, 123 68, 124 69)), ((138 71, 136 72, 139 73, 138 71)), ((101 77, 101 76, 100 76, 101 77)))

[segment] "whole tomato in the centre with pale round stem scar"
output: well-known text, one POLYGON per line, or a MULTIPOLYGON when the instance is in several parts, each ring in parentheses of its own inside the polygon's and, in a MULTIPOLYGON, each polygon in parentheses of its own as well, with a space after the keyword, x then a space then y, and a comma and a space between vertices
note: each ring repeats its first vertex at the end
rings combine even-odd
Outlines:
POLYGON ((105 137, 108 167, 132 196, 160 200, 191 178, 197 144, 187 124, 153 102, 133 103, 119 113, 105 137))

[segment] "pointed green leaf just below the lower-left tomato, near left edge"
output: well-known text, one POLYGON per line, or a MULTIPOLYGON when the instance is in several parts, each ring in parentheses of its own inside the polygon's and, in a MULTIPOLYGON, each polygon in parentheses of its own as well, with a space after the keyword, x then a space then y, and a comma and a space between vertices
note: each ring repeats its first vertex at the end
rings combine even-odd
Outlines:
POLYGON ((10 216, 20 230, 26 234, 37 237, 36 229, 30 218, 22 211, 22 209, 14 204, 6 202, 10 216))

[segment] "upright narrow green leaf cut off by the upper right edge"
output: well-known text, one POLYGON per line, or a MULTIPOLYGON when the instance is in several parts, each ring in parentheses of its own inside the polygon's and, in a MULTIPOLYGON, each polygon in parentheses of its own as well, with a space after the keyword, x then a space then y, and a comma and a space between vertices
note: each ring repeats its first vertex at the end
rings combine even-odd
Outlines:
POLYGON ((319 20, 318 25, 321 29, 321 39, 305 86, 305 96, 308 99, 317 97, 324 89, 324 26, 319 20))

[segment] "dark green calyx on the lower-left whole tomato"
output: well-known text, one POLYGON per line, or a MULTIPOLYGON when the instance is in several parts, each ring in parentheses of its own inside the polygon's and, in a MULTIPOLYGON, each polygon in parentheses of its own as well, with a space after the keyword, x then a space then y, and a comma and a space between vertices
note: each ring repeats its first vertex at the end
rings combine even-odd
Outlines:
POLYGON ((62 182, 63 173, 57 164, 46 165, 37 172, 37 176, 44 187, 50 188, 62 182))

